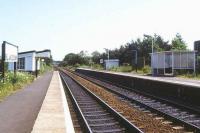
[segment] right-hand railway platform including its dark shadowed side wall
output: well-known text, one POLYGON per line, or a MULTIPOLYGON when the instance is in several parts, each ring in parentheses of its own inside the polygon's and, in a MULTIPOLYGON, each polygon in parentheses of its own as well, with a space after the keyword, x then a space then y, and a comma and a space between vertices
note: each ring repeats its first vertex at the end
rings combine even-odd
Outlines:
POLYGON ((200 81, 177 77, 152 77, 132 73, 98 71, 78 68, 76 72, 112 82, 122 88, 134 89, 168 100, 200 107, 200 81))

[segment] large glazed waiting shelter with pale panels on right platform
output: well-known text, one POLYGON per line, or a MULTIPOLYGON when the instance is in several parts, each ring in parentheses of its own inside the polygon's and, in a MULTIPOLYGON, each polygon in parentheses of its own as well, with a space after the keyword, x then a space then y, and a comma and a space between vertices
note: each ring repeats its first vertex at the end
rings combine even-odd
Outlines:
POLYGON ((195 72, 195 51, 162 51, 151 53, 152 75, 174 75, 174 70, 195 72))

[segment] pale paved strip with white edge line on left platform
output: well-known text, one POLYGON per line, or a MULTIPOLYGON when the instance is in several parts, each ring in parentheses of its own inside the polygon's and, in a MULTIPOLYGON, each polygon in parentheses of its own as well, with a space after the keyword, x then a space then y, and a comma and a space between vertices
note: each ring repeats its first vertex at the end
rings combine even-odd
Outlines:
POLYGON ((74 133, 64 89, 58 71, 54 71, 32 133, 74 133))

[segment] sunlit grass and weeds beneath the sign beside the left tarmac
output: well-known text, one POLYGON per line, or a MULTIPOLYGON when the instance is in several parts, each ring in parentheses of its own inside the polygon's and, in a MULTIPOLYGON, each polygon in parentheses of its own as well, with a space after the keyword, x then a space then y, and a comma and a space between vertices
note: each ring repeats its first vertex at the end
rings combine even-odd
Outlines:
POLYGON ((4 83, 3 80, 0 82, 0 101, 33 80, 34 76, 25 72, 17 72, 16 78, 13 72, 7 72, 4 83))

